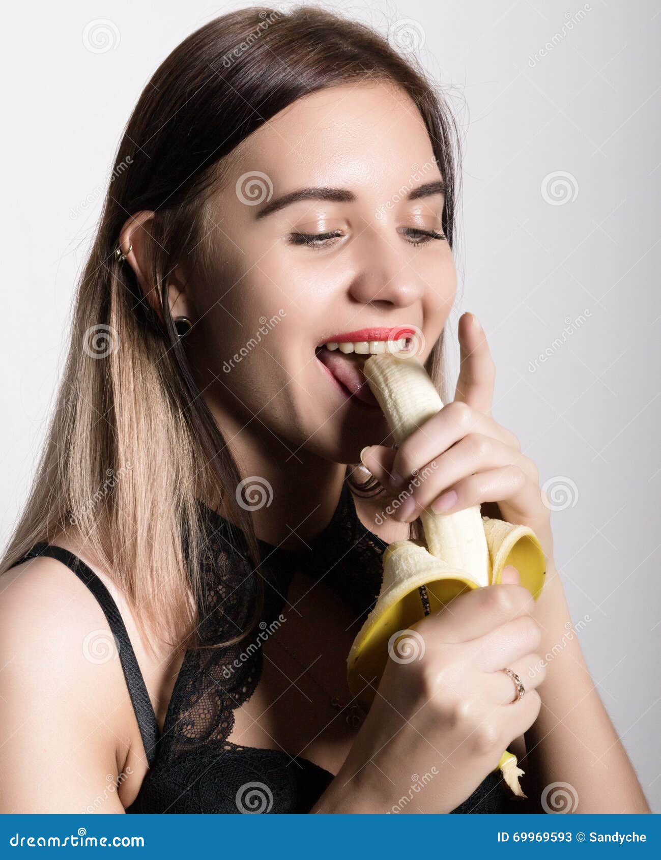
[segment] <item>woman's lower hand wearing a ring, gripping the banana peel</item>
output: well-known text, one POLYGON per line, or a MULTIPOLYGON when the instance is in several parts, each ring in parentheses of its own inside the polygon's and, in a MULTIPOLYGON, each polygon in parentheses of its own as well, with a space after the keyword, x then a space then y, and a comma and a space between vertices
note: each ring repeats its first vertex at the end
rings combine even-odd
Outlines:
POLYGON ((339 803, 335 811, 450 813, 471 796, 540 710, 535 688, 544 670, 533 606, 520 585, 477 588, 413 624, 405 650, 404 637, 394 643, 328 792, 327 801, 339 803), (516 703, 505 668, 525 685, 516 703))

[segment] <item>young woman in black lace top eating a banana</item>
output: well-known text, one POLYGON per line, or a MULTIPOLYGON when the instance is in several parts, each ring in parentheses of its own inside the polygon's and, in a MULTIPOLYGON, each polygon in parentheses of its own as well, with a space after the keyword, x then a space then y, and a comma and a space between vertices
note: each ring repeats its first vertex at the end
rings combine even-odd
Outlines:
POLYGON ((455 171, 423 73, 318 9, 225 15, 156 71, 3 559, 3 812, 521 812, 510 745, 530 808, 567 783, 578 812, 648 811, 479 322, 454 402, 397 449, 360 371, 413 329, 441 387, 455 171), (536 531, 541 599, 511 569, 426 617, 424 659, 390 660, 358 713, 346 656, 383 549, 476 503, 536 531))

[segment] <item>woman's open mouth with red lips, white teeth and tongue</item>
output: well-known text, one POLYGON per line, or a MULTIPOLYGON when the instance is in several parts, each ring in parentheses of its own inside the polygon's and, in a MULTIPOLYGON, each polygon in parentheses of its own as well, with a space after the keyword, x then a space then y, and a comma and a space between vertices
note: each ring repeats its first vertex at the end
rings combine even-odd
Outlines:
POLYGON ((364 362, 370 355, 378 353, 406 353, 409 339, 404 329, 396 329, 395 338, 388 336, 393 329, 364 329, 356 334, 364 334, 367 331, 375 337, 374 340, 326 341, 316 347, 315 355, 328 377, 347 399, 351 398, 356 405, 363 408, 378 409, 378 401, 364 378, 364 362))

